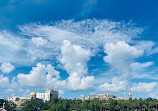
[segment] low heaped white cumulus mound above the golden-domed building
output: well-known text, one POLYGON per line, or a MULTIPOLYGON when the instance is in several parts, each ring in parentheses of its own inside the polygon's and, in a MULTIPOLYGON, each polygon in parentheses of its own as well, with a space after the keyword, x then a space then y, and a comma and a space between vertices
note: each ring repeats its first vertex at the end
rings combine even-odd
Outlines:
POLYGON ((63 88, 65 81, 59 80, 59 72, 51 65, 37 64, 33 67, 30 74, 18 74, 18 83, 23 87, 45 89, 45 88, 63 88))

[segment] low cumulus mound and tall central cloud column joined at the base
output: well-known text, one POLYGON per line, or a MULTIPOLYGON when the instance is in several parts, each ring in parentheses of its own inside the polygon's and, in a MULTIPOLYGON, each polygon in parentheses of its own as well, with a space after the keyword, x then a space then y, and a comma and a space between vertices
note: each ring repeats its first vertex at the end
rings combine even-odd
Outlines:
POLYGON ((72 45, 64 40, 61 47, 61 59, 63 68, 69 74, 66 80, 60 80, 59 72, 50 64, 45 66, 41 63, 33 67, 30 74, 18 74, 18 83, 26 88, 54 88, 83 90, 93 87, 94 77, 87 75, 87 62, 91 56, 90 50, 72 45), (42 82, 41 82, 42 81, 42 82))

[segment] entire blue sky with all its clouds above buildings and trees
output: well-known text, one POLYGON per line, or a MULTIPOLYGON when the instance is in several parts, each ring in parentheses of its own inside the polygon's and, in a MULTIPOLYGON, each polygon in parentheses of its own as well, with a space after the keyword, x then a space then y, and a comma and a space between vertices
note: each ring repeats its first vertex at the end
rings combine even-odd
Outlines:
POLYGON ((45 89, 158 98, 157 0, 0 1, 0 98, 45 89))

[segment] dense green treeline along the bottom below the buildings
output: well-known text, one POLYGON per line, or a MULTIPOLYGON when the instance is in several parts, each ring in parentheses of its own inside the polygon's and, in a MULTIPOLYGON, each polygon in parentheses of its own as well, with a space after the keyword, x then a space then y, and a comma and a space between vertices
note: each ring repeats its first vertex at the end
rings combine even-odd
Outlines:
POLYGON ((49 102, 32 99, 22 104, 22 111, 157 111, 158 100, 130 99, 130 100, 71 100, 53 99, 49 102))

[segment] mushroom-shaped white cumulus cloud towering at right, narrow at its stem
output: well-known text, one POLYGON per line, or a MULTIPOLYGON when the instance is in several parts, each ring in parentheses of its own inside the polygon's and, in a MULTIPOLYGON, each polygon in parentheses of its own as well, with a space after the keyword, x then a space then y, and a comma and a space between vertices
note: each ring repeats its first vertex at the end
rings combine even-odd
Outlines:
POLYGON ((134 59, 142 56, 143 51, 136 49, 134 46, 130 46, 124 41, 117 41, 116 43, 105 44, 104 61, 109 63, 111 69, 118 73, 114 76, 112 83, 104 83, 98 86, 98 89, 103 89, 104 91, 110 90, 112 92, 119 92, 124 89, 124 87, 129 87, 131 79, 132 68, 130 64, 134 59), (111 87, 111 89, 110 89, 111 87))

